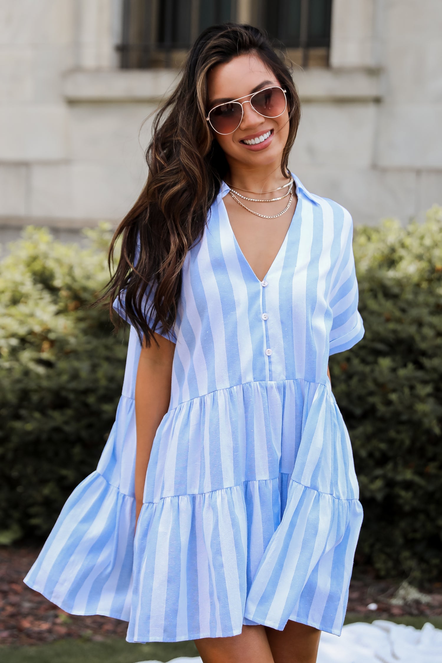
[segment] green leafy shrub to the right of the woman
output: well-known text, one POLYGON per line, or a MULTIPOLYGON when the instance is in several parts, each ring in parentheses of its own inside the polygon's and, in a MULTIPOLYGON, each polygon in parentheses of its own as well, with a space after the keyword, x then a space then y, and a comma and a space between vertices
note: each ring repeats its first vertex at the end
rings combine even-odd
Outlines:
POLYGON ((442 208, 355 229, 365 335, 330 359, 364 523, 357 561, 442 575, 442 208))

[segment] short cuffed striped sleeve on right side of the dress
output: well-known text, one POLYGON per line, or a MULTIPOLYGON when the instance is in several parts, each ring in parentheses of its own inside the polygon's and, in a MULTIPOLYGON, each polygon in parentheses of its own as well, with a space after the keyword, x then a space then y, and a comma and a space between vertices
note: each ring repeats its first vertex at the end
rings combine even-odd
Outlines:
POLYGON ((358 311, 358 282, 353 257, 353 221, 344 211, 341 253, 333 270, 329 306, 333 314, 330 331, 330 355, 353 347, 364 335, 364 325, 358 311))

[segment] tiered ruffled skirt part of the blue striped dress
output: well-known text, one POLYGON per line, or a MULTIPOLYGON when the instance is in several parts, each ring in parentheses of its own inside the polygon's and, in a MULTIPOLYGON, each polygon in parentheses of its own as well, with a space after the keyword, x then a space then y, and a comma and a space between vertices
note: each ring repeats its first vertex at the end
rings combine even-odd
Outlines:
POLYGON ((283 629, 340 634, 362 522, 329 383, 247 383, 163 418, 135 536, 139 348, 97 471, 72 493, 25 582, 68 613, 129 621, 131 642, 283 629))

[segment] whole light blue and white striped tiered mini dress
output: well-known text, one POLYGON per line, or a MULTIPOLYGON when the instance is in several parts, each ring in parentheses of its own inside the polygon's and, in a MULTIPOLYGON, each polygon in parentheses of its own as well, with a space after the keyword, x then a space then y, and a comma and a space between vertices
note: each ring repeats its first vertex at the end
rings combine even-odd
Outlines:
POLYGON ((68 613, 129 621, 129 642, 281 630, 289 619, 341 633, 362 509, 327 361, 364 329, 351 216, 295 182, 296 211, 264 280, 231 229, 227 185, 186 257, 170 406, 135 542, 131 329, 97 471, 25 579, 68 613))

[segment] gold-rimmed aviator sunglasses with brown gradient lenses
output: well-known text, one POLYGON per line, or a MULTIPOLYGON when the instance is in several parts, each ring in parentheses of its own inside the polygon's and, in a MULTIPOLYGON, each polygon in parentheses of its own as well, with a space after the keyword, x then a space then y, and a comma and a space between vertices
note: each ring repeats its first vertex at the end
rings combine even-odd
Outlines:
POLYGON ((232 101, 219 103, 210 109, 205 119, 213 131, 223 135, 236 131, 243 121, 243 103, 250 103, 252 109, 262 117, 279 117, 286 110, 286 90, 282 90, 282 88, 264 88, 264 90, 244 96, 250 97, 250 99, 239 101, 238 99, 243 99, 243 97, 238 97, 232 101))

